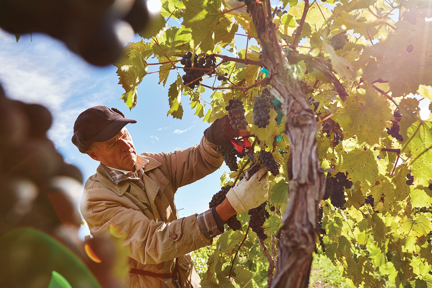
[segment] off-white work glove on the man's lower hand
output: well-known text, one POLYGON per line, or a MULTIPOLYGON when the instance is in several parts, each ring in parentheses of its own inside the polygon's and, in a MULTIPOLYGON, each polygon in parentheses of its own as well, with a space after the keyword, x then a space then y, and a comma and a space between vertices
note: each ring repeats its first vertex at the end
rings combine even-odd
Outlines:
POLYGON ((245 177, 232 187, 226 198, 232 208, 240 214, 258 207, 269 196, 269 174, 267 167, 261 167, 249 180, 245 177))

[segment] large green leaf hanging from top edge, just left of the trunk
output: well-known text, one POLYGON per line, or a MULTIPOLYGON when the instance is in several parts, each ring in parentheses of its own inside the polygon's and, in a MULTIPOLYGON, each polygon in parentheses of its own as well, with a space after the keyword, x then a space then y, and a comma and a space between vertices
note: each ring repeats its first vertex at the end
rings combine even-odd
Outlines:
POLYGON ((184 2, 186 12, 183 16, 183 25, 192 28, 192 39, 195 45, 200 45, 204 53, 213 51, 214 31, 220 25, 223 15, 219 14, 221 4, 221 0, 184 2))

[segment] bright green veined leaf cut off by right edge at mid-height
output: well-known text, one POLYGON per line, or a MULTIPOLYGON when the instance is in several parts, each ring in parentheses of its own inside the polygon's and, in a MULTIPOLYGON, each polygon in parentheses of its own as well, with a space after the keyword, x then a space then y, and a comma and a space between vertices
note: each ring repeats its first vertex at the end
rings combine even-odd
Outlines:
POLYGON ((407 135, 405 147, 411 152, 408 168, 414 176, 414 188, 428 187, 432 183, 432 117, 413 123, 407 135))

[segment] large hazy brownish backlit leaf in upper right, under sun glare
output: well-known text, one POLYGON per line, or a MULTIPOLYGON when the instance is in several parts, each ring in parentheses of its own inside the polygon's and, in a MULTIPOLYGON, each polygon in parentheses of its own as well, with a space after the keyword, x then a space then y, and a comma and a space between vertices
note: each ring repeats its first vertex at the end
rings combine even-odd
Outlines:
POLYGON ((420 84, 431 83, 432 38, 424 37, 431 26, 424 20, 416 25, 400 21, 394 34, 365 47, 364 54, 372 57, 364 68, 363 79, 368 83, 378 79, 388 81, 393 97, 415 93, 420 84))

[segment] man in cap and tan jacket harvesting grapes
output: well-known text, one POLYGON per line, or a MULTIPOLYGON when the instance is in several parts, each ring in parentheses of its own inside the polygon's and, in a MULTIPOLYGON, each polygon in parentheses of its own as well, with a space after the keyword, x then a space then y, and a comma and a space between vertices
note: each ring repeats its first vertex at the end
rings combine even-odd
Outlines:
POLYGON ((79 114, 72 142, 100 161, 96 174, 86 181, 81 212, 93 235, 110 226, 126 235, 130 273, 125 287, 200 287, 190 252, 211 244, 232 215, 267 199, 267 170, 238 182, 216 208, 177 218, 177 189, 216 171, 222 165, 216 148, 232 146, 230 139, 248 132, 234 130, 224 116, 204 131, 198 145, 139 155, 125 127, 136 122, 106 106, 79 114))

